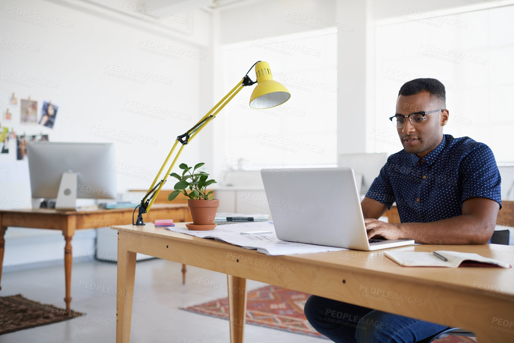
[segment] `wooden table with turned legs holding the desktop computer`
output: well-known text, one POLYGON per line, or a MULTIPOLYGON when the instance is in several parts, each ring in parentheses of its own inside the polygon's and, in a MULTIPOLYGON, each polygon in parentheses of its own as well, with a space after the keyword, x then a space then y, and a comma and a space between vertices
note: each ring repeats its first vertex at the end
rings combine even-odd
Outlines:
MULTIPOLYGON (((135 205, 134 205, 135 206, 135 205)), ((93 229, 132 223, 134 208, 118 208, 109 210, 56 210, 56 209, 28 209, 7 210, 0 209, 0 266, 4 261, 4 234, 8 226, 29 227, 34 229, 53 229, 63 232, 66 245, 64 247, 64 274, 66 279, 66 310, 70 309, 71 302, 71 239, 75 230, 93 229)), ((137 212, 135 213, 137 216, 137 212)), ((143 214, 144 222, 153 223, 156 219, 173 219, 176 222, 185 222, 189 217, 187 204, 155 204, 150 212, 143 214)), ((135 220, 135 219, 134 219, 135 220)), ((153 224, 152 224, 153 227, 153 224)), ((2 270, 0 269, 0 280, 2 270)), ((2 287, 0 287, 0 290, 2 287)))

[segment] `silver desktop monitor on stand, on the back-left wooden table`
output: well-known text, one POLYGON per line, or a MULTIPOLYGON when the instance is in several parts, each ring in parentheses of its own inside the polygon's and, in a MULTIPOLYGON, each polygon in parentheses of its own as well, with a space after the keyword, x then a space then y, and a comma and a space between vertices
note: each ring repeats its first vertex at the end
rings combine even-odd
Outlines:
POLYGON ((57 198, 56 208, 72 209, 76 198, 116 197, 113 143, 38 142, 27 145, 27 156, 33 198, 57 198))

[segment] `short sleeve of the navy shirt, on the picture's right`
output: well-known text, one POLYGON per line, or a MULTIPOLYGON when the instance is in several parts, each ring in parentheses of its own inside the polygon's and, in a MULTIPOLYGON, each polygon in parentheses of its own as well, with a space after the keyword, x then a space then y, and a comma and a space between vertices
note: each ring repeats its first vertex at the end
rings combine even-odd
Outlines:
POLYGON ((461 161, 462 203, 474 196, 490 198, 500 204, 501 176, 492 150, 485 144, 473 149, 461 161))

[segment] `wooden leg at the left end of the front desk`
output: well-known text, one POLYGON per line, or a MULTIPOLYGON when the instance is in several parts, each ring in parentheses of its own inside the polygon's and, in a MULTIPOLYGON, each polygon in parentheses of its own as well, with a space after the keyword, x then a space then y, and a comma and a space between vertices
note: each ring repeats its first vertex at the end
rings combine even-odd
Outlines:
POLYGON ((130 341, 136 253, 123 249, 118 239, 118 290, 116 308, 116 343, 130 341))

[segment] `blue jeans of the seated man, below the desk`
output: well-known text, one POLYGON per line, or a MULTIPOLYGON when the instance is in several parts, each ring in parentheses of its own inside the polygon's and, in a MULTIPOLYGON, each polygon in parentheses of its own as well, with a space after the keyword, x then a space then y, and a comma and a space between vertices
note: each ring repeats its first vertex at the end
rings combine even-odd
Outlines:
POLYGON ((428 341, 448 327, 311 295, 305 317, 319 333, 343 343, 428 341))

